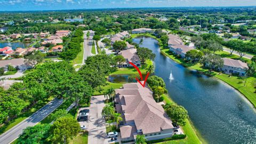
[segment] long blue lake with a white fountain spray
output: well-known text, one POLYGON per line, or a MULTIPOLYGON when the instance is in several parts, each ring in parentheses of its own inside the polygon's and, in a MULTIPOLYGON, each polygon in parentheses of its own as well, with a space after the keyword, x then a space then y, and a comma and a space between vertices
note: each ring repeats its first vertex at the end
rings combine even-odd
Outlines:
POLYGON ((161 54, 156 39, 133 42, 156 54, 155 75, 162 77, 170 97, 188 110, 189 117, 209 143, 256 143, 256 113, 233 87, 189 70, 161 54))

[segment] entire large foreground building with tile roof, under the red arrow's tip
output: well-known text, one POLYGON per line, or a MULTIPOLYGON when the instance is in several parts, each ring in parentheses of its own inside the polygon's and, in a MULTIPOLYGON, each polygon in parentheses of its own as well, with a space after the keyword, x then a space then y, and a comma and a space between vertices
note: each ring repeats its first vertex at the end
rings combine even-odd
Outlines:
POLYGON ((119 124, 122 141, 135 141, 138 134, 144 134, 147 140, 172 137, 176 127, 147 85, 124 84, 115 93, 116 111, 123 117, 119 124))

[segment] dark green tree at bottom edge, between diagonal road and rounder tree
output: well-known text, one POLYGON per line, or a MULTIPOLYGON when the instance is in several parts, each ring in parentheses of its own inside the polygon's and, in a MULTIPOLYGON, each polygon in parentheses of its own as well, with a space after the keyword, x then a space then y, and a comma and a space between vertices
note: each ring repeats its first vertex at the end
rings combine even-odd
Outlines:
POLYGON ((23 130, 22 134, 17 139, 19 144, 34 144, 34 143, 47 143, 47 138, 50 135, 50 124, 38 124, 29 126, 23 130))

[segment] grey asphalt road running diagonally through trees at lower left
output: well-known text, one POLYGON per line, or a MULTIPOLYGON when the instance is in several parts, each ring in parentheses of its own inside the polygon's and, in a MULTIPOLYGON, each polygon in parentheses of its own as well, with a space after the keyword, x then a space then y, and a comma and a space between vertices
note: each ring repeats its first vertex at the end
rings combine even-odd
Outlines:
POLYGON ((51 102, 47 103, 47 105, 36 111, 33 115, 24 119, 22 122, 12 127, 12 129, 0 135, 0 143, 11 143, 19 137, 23 129, 26 129, 26 127, 28 126, 34 126, 37 123, 41 122, 46 116, 48 116, 55 109, 57 109, 62 102, 63 99, 54 99, 51 102))

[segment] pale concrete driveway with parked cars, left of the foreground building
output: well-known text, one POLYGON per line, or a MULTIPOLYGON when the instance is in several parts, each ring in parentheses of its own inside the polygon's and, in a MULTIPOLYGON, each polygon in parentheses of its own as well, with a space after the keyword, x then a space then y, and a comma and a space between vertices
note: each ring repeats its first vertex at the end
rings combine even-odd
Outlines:
MULTIPOLYGON (((102 118, 101 111, 105 106, 103 102, 104 95, 94 96, 91 98, 91 106, 89 107, 89 120, 87 122, 79 122, 80 125, 85 125, 89 131, 88 143, 102 144, 108 143, 106 134, 106 122, 102 118)), ((88 109, 88 108, 81 108, 88 109)))

